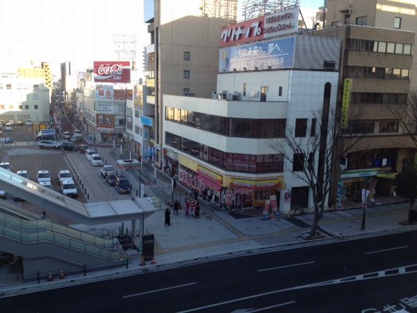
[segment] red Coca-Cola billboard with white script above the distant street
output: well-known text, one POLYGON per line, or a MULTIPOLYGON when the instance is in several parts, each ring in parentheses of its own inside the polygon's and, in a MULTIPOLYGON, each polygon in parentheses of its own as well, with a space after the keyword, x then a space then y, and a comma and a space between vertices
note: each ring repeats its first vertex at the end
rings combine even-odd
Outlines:
POLYGON ((129 61, 94 61, 95 83, 130 83, 129 61))

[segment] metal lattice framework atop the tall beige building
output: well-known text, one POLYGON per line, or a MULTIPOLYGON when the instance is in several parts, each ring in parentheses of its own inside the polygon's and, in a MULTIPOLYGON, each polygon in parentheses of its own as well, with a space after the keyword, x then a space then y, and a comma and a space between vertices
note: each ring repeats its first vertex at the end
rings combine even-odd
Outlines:
POLYGON ((238 0, 201 0, 202 15, 236 21, 238 0))

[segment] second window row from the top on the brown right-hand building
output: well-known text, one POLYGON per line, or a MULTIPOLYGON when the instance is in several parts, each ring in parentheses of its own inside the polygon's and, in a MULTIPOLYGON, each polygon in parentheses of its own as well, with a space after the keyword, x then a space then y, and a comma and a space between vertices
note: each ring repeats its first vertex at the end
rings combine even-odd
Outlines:
POLYGON ((345 77, 368 79, 410 79, 408 68, 346 66, 345 77))

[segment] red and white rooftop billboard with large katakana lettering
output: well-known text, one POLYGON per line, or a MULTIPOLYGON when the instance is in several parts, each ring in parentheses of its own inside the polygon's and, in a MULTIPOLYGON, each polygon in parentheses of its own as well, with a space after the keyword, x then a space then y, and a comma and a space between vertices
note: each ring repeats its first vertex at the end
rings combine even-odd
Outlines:
POLYGON ((297 33, 299 8, 289 8, 222 28, 220 47, 297 33))

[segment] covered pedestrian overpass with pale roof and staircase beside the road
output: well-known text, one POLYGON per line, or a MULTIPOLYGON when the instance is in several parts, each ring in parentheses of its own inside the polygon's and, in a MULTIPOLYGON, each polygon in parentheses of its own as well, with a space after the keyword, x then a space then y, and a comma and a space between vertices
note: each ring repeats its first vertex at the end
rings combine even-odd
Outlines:
MULTIPOLYGON (((142 221, 143 234, 145 218, 165 209, 161 201, 151 197, 83 203, 3 168, 0 168, 0 189, 44 211, 85 225, 131 220, 132 234, 136 234, 137 220, 142 221)), ((33 279, 38 271, 82 271, 84 266, 91 269, 120 265, 124 252, 113 239, 33 218, 13 207, 0 200, 0 251, 23 257, 24 278, 33 279)))

